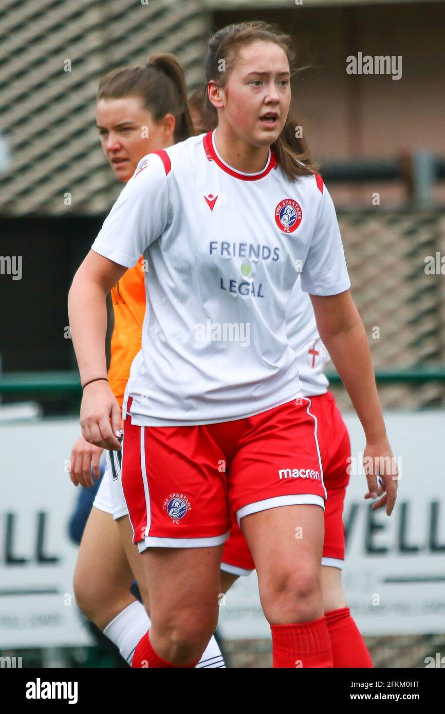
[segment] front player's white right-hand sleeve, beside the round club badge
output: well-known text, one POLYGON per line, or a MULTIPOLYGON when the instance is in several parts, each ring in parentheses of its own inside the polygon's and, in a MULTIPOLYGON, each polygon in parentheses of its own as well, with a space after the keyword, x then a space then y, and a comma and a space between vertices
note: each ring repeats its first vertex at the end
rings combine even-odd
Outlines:
POLYGON ((314 235, 301 271, 301 288, 311 295, 338 295, 351 287, 334 203, 323 186, 314 235))

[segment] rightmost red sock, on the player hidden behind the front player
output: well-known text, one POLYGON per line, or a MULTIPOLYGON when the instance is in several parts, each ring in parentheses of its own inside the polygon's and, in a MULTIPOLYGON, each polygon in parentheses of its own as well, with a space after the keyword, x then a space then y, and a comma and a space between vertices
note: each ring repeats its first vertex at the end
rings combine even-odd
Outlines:
POLYGON ((334 667, 372 667, 371 655, 349 608, 325 613, 334 667))

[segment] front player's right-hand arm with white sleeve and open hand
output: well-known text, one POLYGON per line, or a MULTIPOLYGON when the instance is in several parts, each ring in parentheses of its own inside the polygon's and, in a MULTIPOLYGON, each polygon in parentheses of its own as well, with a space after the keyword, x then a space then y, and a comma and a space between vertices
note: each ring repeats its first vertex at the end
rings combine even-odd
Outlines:
POLYGON ((301 287, 311 296, 321 341, 364 428, 364 470, 369 489, 365 498, 376 498, 379 493, 376 479, 380 474, 386 494, 373 508, 386 506, 390 515, 396 500, 397 471, 386 438, 368 339, 349 293, 351 282, 334 203, 326 186, 321 188, 314 235, 301 272, 301 287))

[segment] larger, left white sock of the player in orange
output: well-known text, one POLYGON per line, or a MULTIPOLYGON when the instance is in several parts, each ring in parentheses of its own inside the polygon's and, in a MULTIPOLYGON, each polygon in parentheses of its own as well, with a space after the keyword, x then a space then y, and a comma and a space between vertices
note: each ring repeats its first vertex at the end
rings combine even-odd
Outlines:
POLYGON ((131 666, 136 645, 150 629, 151 620, 147 615, 144 605, 135 600, 128 605, 111 623, 106 625, 104 635, 113 642, 124 660, 131 666))

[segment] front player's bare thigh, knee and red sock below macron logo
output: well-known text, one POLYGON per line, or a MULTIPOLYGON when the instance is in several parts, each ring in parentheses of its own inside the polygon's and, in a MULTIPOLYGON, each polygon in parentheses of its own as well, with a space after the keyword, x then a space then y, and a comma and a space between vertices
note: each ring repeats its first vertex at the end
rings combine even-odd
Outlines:
POLYGON ((274 667, 331 667, 321 589, 323 509, 311 504, 269 508, 242 518, 241 530, 271 625, 274 667))

